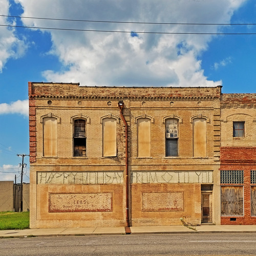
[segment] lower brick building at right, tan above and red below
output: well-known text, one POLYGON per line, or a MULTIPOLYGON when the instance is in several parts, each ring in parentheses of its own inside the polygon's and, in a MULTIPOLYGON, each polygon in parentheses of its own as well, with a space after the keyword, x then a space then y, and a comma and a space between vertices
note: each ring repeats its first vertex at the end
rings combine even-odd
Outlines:
POLYGON ((256 224, 256 94, 221 96, 221 224, 256 224))

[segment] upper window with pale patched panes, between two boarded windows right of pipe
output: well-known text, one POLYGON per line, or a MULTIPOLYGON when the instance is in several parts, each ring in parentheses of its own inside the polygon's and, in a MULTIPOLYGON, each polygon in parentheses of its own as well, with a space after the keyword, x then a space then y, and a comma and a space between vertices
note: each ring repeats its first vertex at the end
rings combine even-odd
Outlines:
POLYGON ((178 156, 178 120, 166 119, 165 121, 165 156, 178 156))

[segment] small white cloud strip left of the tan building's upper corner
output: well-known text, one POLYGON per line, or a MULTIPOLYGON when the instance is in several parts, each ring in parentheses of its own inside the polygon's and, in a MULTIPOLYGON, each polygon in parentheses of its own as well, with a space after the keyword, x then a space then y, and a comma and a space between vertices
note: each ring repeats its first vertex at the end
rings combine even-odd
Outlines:
POLYGON ((21 114, 24 116, 29 115, 29 100, 17 100, 14 102, 0 103, 0 115, 1 114, 21 114))

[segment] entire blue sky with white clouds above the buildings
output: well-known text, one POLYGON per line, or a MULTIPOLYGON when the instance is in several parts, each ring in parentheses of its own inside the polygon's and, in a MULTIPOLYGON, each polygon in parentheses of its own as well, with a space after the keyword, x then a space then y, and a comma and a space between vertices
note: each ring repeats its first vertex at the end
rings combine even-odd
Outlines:
MULTIPOLYGON (((87 86, 217 86, 255 93, 256 25, 70 22, 9 16, 142 23, 256 24, 254 0, 0 0, 0 180, 20 181, 29 154, 28 81, 87 86), (57 10, 57 11, 56 11, 57 10)), ((24 181, 29 182, 29 158, 24 181)))

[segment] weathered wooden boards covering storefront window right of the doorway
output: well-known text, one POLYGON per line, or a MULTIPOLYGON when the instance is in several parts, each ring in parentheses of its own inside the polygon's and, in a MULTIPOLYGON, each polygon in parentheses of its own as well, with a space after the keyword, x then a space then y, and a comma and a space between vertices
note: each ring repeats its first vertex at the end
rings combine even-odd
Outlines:
POLYGON ((244 195, 242 186, 221 186, 221 215, 244 215, 244 195))

